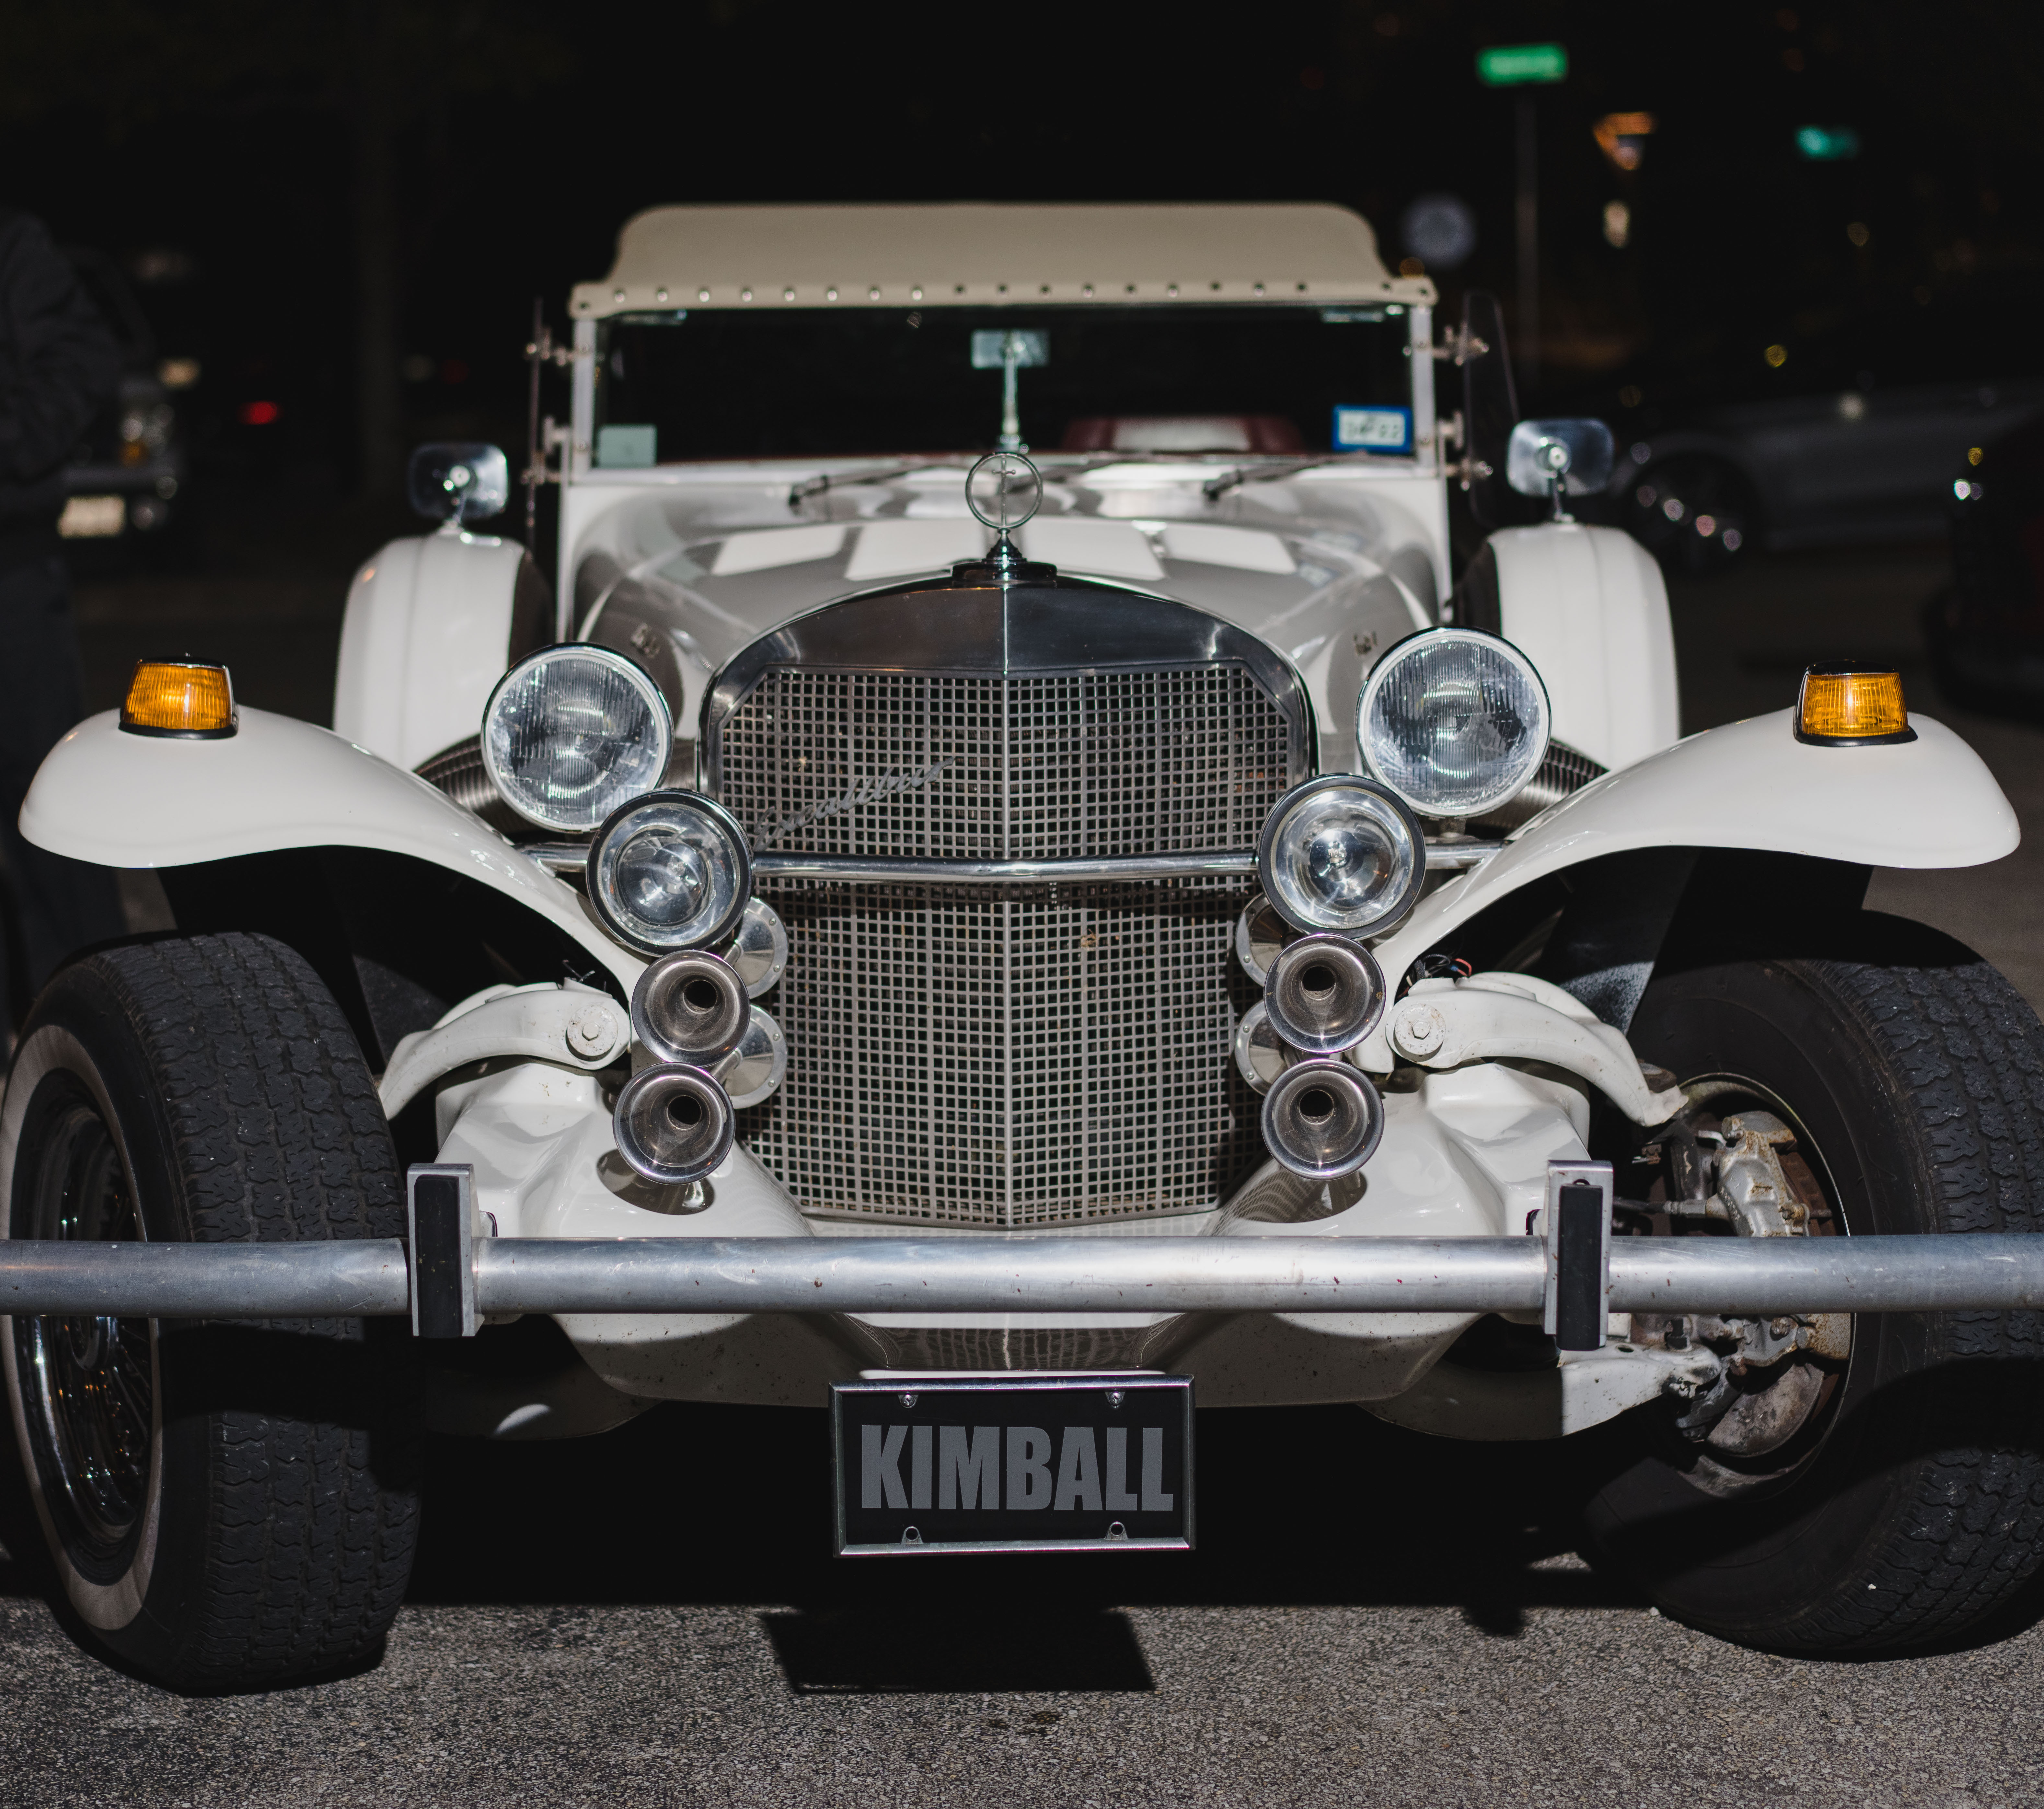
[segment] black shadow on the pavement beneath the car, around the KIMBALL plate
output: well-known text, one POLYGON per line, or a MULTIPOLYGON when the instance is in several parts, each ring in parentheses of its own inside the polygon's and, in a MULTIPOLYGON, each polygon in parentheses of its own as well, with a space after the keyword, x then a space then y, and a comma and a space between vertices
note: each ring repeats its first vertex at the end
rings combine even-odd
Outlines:
POLYGON ((1208 1410, 1192 1553, 838 1560, 822 1412, 666 1404, 599 1439, 437 1445, 411 1601, 787 1603, 769 1631, 797 1688, 979 1688, 959 1678, 1030 1652, 1132 1678, 1141 1654, 1104 1613, 1126 1603, 1447 1605, 1513 1635, 1529 1607, 1637 1601, 1586 1568, 1531 1568, 1574 1547, 1590 1443, 1447 1445, 1353 1406, 1208 1410))

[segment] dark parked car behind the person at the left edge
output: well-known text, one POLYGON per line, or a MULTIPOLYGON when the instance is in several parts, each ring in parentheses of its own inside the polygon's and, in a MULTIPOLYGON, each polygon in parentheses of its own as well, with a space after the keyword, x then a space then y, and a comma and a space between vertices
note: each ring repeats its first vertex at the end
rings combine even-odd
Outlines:
POLYGON ((198 362, 157 354, 149 317, 114 258, 88 245, 67 245, 63 256, 121 343, 121 388, 65 466, 57 531, 65 540, 161 538, 182 511, 186 431, 178 392, 198 380, 198 362))

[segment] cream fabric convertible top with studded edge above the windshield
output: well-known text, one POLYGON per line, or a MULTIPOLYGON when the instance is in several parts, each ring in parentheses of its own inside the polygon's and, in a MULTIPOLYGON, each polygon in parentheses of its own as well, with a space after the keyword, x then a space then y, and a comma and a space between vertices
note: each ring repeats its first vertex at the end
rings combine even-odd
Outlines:
POLYGON ((656 206, 578 317, 834 303, 1398 300, 1369 221, 1327 202, 656 206))

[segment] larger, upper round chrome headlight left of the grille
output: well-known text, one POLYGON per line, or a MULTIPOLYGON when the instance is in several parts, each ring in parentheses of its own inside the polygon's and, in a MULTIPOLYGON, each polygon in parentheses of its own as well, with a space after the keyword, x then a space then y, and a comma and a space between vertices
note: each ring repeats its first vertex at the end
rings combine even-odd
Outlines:
POLYGON ((544 830, 593 830, 666 777, 666 699, 623 654, 542 648, 482 709, 482 764, 505 803, 544 830))

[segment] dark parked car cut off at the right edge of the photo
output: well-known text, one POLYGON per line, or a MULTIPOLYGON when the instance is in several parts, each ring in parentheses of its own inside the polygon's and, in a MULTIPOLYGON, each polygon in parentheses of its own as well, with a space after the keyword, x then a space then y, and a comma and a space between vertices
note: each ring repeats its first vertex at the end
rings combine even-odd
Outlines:
POLYGON ((2044 419, 1950 472, 1952 585, 1925 615, 1938 685, 1970 709, 2044 713, 2044 419))

